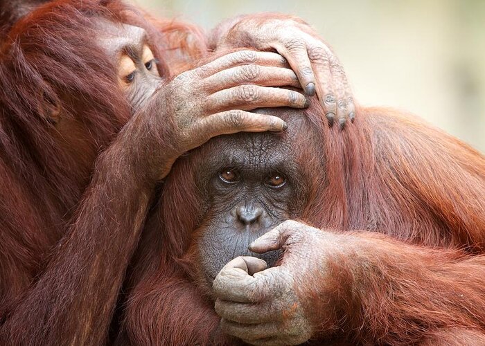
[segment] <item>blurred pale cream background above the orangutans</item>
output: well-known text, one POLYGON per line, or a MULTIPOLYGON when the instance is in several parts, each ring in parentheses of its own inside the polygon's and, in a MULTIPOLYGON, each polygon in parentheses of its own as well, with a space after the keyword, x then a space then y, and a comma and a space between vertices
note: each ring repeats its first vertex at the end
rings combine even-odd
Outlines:
POLYGON ((210 30, 276 11, 308 21, 361 104, 407 109, 485 153, 485 0, 131 0, 210 30))

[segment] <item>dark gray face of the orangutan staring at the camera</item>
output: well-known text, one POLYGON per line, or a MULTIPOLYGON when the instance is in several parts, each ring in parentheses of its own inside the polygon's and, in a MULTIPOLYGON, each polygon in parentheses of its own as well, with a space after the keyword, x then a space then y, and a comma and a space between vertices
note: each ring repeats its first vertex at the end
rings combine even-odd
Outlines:
POLYGON ((305 205, 306 179, 291 138, 291 131, 236 134, 216 138, 207 148, 197 174, 206 206, 197 232, 197 262, 207 288, 235 257, 261 257, 268 266, 278 259, 274 251, 256 255, 247 247, 281 222, 297 217, 305 205))

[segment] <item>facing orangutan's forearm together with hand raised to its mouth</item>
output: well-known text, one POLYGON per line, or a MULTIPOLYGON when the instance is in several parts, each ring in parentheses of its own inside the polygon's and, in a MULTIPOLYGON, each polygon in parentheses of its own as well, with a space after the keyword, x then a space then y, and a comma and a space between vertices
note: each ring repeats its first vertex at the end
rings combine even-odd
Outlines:
POLYGON ((329 233, 295 221, 251 248, 283 248, 281 265, 248 275, 261 260, 238 257, 214 282, 222 330, 247 343, 264 345, 269 338, 292 345, 308 339, 408 345, 446 333, 484 337, 483 255, 376 233, 329 233))

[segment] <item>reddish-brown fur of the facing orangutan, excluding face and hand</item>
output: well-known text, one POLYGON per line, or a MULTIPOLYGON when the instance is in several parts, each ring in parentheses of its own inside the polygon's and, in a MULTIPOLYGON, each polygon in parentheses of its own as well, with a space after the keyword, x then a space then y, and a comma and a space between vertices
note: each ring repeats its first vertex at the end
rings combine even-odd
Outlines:
MULTIPOLYGON (((330 287, 335 304, 308 298, 317 345, 483 343, 484 156, 391 109, 360 108, 343 134, 316 102, 304 113, 319 138, 296 153, 313 177, 300 219, 371 231, 353 232, 367 244, 358 255, 329 260, 338 274, 321 290, 330 287), (335 312, 330 327, 319 311, 335 312)), ((202 219, 193 184, 201 150, 173 167, 134 257, 125 329, 135 345, 236 342, 220 334, 213 302, 190 280, 197 264, 184 260, 202 219)))

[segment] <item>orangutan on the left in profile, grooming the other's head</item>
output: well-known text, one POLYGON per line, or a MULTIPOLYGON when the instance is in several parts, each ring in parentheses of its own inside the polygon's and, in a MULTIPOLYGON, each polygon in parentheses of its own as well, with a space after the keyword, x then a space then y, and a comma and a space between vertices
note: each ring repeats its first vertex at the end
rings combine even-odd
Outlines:
POLYGON ((296 75, 270 52, 230 53, 170 80, 167 37, 118 1, 53 1, 2 40, 1 345, 103 343, 175 159, 220 134, 281 131, 283 120, 249 110, 308 102, 266 87, 300 85, 300 65, 296 75))

